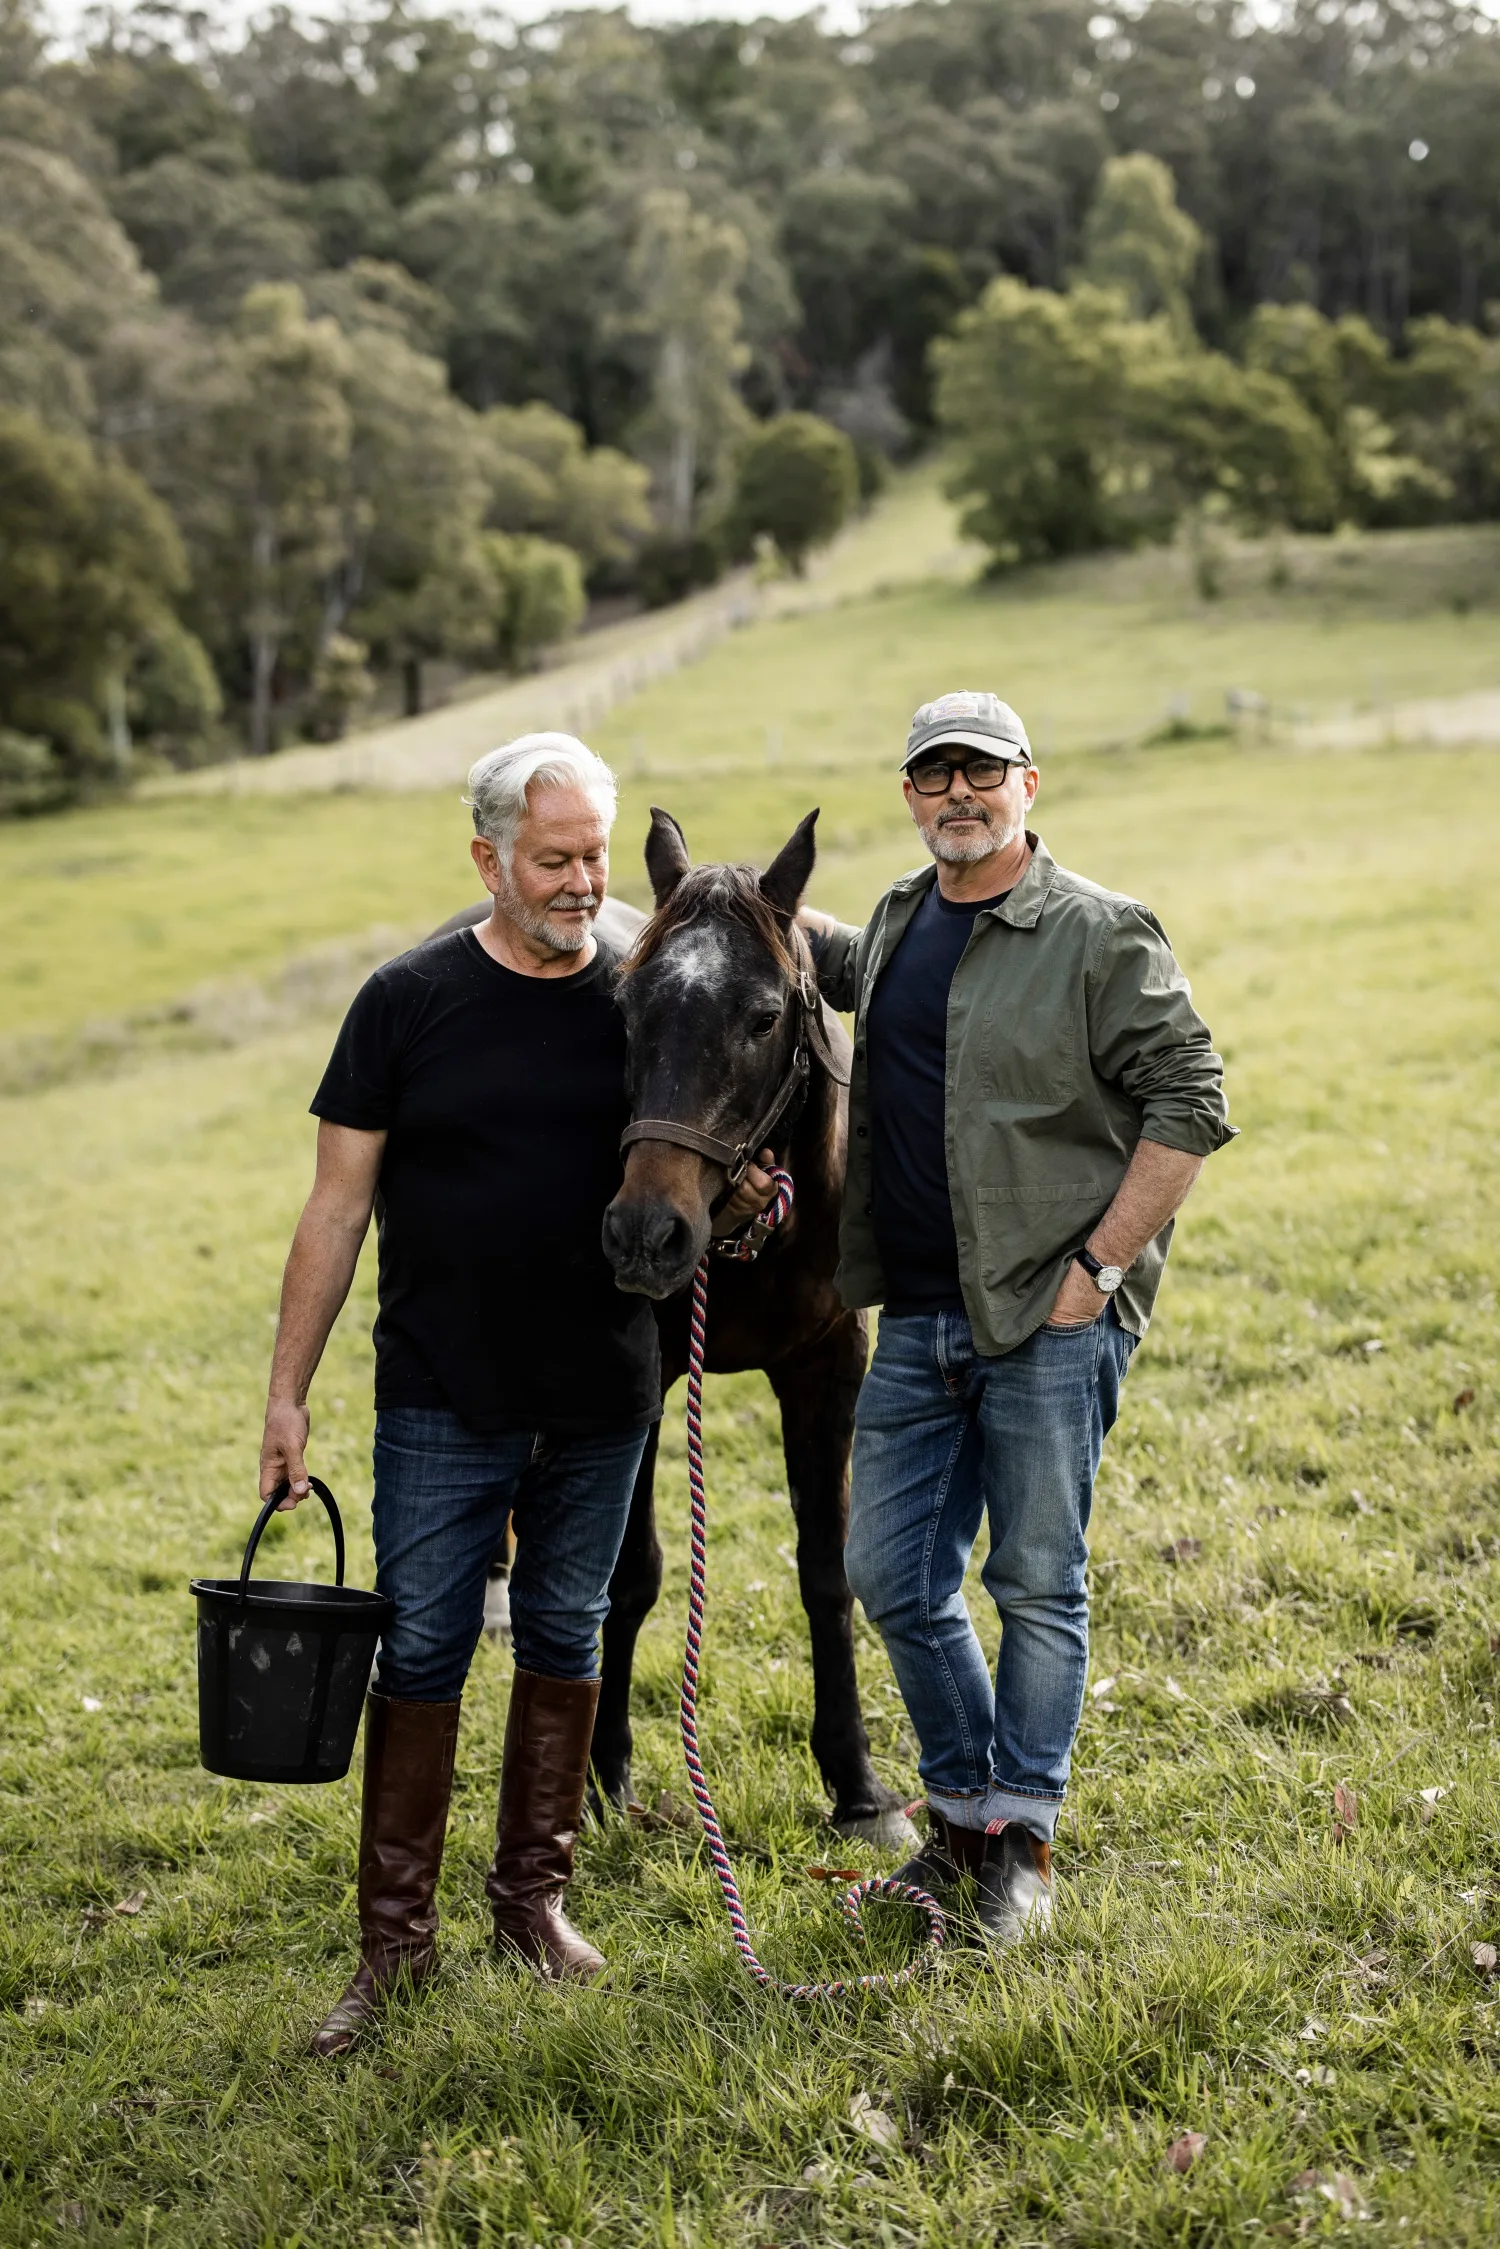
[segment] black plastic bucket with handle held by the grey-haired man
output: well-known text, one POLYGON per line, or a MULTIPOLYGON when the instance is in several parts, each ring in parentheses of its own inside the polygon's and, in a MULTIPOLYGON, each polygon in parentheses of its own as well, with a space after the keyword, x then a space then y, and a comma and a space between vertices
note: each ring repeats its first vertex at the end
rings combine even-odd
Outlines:
POLYGON ((344 1525, 328 1509, 337 1583, 250 1583, 261 1532, 286 1498, 277 1484, 245 1547, 238 1577, 196 1577, 198 1754, 234 1781, 342 1781, 353 1756, 376 1642, 394 1606, 344 1583, 344 1525))

